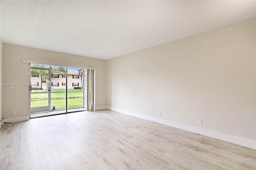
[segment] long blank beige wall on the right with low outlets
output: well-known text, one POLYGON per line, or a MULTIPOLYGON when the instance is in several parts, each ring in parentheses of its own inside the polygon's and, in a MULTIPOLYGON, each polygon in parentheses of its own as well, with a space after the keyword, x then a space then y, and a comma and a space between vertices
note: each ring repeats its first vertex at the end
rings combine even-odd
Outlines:
POLYGON ((110 59, 107 106, 256 140, 255 51, 252 18, 110 59))

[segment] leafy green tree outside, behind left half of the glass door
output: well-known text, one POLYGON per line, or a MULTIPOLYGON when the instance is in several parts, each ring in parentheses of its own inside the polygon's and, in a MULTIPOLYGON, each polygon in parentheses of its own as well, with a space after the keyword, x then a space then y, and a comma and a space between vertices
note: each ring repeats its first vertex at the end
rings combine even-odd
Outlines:
MULTIPOLYGON (((33 64, 31 67, 47 68, 44 64, 33 64)), ((41 87, 42 87, 42 83, 47 83, 47 80, 49 80, 48 70, 31 69, 31 74, 39 75, 41 77, 41 87)), ((51 66, 50 75, 51 75, 51 81, 55 78, 54 75, 66 75, 66 67, 51 66)))

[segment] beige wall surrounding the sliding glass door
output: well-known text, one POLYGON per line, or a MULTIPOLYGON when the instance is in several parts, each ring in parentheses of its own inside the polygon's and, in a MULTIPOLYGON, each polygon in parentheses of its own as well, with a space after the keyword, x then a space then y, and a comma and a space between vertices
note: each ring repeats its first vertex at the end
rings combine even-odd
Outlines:
MULTIPOLYGON (((106 61, 55 51, 47 51, 3 43, 3 83, 28 83, 29 66, 22 59, 96 67, 96 107, 106 106, 106 61)), ((3 116, 5 119, 29 114, 28 87, 3 87, 3 116), (12 115, 16 111, 16 115, 12 115)))

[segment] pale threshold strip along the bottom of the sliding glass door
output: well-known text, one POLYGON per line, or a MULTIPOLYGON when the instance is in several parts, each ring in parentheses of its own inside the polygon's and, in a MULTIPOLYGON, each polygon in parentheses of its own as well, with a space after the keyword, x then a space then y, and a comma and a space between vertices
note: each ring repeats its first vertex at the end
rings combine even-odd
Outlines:
MULTIPOLYGON (((68 113, 80 112, 80 111, 86 111, 86 108, 68 109, 68 113)), ((66 114, 66 110, 31 113, 30 118, 45 117, 45 116, 60 115, 60 114, 66 114)))

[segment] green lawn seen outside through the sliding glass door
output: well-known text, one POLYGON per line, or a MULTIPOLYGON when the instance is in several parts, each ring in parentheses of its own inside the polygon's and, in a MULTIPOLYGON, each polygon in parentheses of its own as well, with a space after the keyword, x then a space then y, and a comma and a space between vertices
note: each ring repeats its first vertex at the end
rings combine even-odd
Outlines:
MULTIPOLYGON (((44 92, 45 90, 33 90, 32 92, 44 92)), ((66 109, 66 89, 52 89, 51 106, 55 106, 56 110, 66 109)), ((76 91, 77 93, 68 93, 68 109, 83 107, 82 90, 68 89, 68 92, 76 91)), ((31 94, 31 107, 48 106, 48 93, 31 94)))

